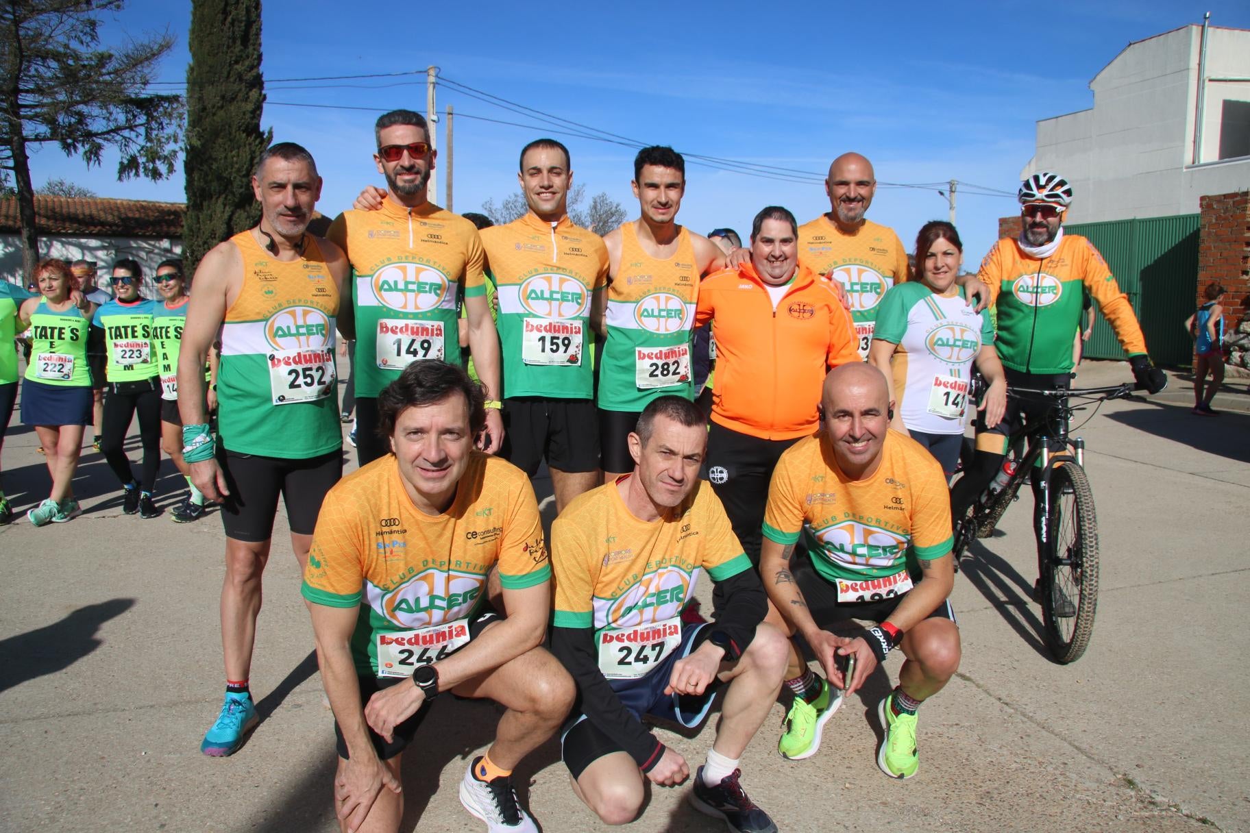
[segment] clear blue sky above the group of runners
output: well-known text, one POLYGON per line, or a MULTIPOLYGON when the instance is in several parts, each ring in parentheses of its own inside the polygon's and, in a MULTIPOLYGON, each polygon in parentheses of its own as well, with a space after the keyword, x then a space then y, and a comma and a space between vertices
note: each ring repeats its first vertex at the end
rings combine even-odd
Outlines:
MULTIPOLYGON (((950 179, 1015 191, 1032 156, 1035 121, 1092 105, 1089 81, 1130 41, 1201 22, 1192 4, 1150 0, 1000 4, 719 2, 535 6, 502 2, 264 4, 268 80, 394 74, 420 76, 270 82, 262 126, 298 141, 325 180, 319 209, 335 215, 360 187, 380 182, 370 154, 384 110, 425 110, 424 69, 461 85, 642 142, 822 177, 838 154, 869 156, 879 181, 950 179), (376 111, 295 105, 371 107, 376 111)), ((1250 27, 1244 0, 1210 0, 1212 25, 1250 27)), ((168 27, 178 41, 159 79, 185 80, 190 4, 131 0, 106 19, 105 42, 168 27)), ((546 135, 532 117, 456 91, 452 104, 456 211, 476 211, 516 189, 516 152, 546 135), (471 119, 496 119, 509 126, 471 119)), ((570 129, 575 130, 575 129, 570 129)), ((556 135, 572 152, 575 181, 606 191, 636 216, 634 149, 556 135)), ((440 154, 445 140, 439 135, 440 154)), ((35 185, 62 177, 102 196, 182 200, 180 171, 162 182, 115 179, 116 164, 88 170, 49 147, 31 159, 35 185)), ((439 172, 444 202, 444 171, 439 172)), ((688 164, 679 220, 706 234, 746 236, 769 204, 800 221, 829 210, 819 181, 780 181, 688 164)), ((1080 195, 1078 195, 1080 199, 1080 195)), ((961 194, 958 225, 975 269, 1011 199, 961 194)), ((869 217, 904 242, 948 214, 932 190, 880 187, 869 217)))

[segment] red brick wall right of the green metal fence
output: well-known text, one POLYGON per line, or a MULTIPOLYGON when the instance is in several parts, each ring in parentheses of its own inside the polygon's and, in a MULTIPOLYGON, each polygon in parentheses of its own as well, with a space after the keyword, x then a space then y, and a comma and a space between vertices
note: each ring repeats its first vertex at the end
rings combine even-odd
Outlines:
MULTIPOLYGON (((1194 306, 1206 301, 1202 292, 1208 283, 1222 283, 1224 330, 1231 335, 1238 322, 1250 313, 1250 192, 1204 196, 1199 200, 1199 212, 1201 227, 1194 306)), ((1242 351, 1232 351, 1230 363, 1244 361, 1242 355, 1242 351)))

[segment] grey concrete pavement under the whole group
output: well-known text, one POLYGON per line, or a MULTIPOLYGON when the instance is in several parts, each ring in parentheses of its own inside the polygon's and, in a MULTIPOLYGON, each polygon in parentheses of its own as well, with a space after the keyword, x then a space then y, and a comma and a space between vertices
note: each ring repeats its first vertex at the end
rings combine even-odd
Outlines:
MULTIPOLYGON (((1088 365, 1080 382, 1126 375, 1088 365)), ((964 662, 921 709, 916 778, 891 782, 875 766, 884 673, 806 762, 778 757, 774 707, 744 769, 782 831, 1250 831, 1250 396, 1236 383, 1216 400, 1224 416, 1202 420, 1189 413, 1188 386, 1175 387, 1106 405, 1080 431, 1102 550, 1086 656, 1060 667, 1040 646, 1021 502, 956 579, 964 662)), ((46 490, 34 446, 15 426, 4 448, 4 485, 22 510, 46 490)), ((221 689, 221 527, 124 516, 112 486, 89 452, 75 482, 86 515, 0 528, 0 829, 338 829, 331 718, 284 521, 252 676, 265 721, 235 757, 205 758, 198 747, 221 689)), ((160 490, 168 507, 176 478, 160 490)), ((886 663, 890 679, 898 664, 886 663)), ((481 831, 455 786, 498 711, 439 708, 406 756, 405 829, 481 831)), ((662 737, 692 761, 711 742, 709 729, 662 737)), ((518 783, 549 833, 601 829, 570 793, 554 743, 518 783)), ((682 796, 654 791, 630 829, 724 829, 682 796)))

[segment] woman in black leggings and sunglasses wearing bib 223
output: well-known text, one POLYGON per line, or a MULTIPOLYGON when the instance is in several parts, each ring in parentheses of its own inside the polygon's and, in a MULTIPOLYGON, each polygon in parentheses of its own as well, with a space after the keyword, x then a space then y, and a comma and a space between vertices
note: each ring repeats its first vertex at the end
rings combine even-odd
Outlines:
POLYGON ((100 450, 125 490, 121 511, 154 518, 152 503, 160 470, 160 376, 152 343, 156 302, 139 295, 144 272, 139 262, 124 257, 112 265, 116 297, 95 311, 91 325, 104 333, 109 361, 100 450), (130 468, 124 445, 130 422, 139 415, 139 441, 144 450, 141 482, 130 468))

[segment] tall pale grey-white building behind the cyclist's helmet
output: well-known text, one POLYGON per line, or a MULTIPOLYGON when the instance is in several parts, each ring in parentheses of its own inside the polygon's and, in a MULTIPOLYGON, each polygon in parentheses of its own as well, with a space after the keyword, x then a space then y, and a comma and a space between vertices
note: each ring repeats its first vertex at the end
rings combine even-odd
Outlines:
POLYGON ((1125 46, 1091 109, 1038 122, 1020 177, 1068 177, 1069 222, 1196 214, 1202 195, 1250 189, 1250 31, 1210 26, 1205 52, 1200 72, 1201 25, 1125 46))

